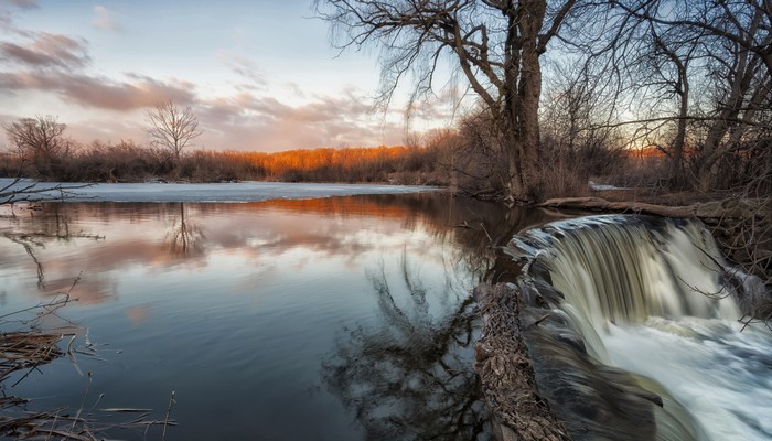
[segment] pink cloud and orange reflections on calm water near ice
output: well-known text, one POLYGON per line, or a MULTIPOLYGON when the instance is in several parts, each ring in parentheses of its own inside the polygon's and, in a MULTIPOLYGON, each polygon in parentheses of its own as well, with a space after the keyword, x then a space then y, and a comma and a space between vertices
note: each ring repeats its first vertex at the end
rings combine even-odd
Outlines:
MULTIPOLYGON (((297 250, 318 257, 321 254, 355 260, 367 251, 401 247, 398 240, 392 238, 401 237, 404 220, 416 216, 408 213, 408 206, 376 204, 351 197, 228 205, 185 204, 184 208, 185 222, 195 223, 201 228, 199 239, 203 243, 199 254, 175 255, 164 243, 169 228, 179 228, 180 204, 137 205, 132 207, 132 216, 136 216, 132 222, 126 220, 126 211, 120 208, 120 204, 115 208, 105 204, 67 203, 56 206, 61 212, 58 218, 66 218, 71 227, 88 224, 105 239, 89 241, 90 245, 78 251, 77 258, 67 252, 58 256, 53 250, 41 249, 46 292, 67 290, 73 275, 87 271, 76 287, 76 294, 85 301, 98 301, 109 297, 112 288, 104 282, 97 286, 89 273, 108 275, 132 267, 165 270, 184 265, 200 268, 211 263, 213 252, 237 255, 256 265, 270 265, 286 252, 297 250), (69 211, 69 207, 75 208, 69 211), (99 222, 97 225, 94 224, 95 219, 99 222)), ((46 216, 43 215, 23 218, 21 227, 40 230, 44 222, 46 216)), ((20 248, 10 250, 23 252, 20 248)), ((29 266, 23 256, 15 259, 13 256, 10 254, 9 259, 0 261, 7 261, 9 268, 29 266)), ((298 260, 294 263, 310 265, 310 261, 298 260)))

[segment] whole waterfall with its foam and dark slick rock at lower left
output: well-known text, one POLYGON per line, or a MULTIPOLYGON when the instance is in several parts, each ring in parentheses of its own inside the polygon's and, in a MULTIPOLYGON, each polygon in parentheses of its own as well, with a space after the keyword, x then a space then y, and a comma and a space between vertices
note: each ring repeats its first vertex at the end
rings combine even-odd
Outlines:
POLYGON ((575 439, 772 439, 772 333, 740 331, 741 287, 726 277, 737 273, 700 224, 591 216, 527 232, 507 252, 527 260, 523 297, 555 318, 526 343, 558 411, 582 418, 575 439), (590 391, 601 380, 611 386, 590 391), (612 426, 613 412, 642 422, 591 428, 612 426))

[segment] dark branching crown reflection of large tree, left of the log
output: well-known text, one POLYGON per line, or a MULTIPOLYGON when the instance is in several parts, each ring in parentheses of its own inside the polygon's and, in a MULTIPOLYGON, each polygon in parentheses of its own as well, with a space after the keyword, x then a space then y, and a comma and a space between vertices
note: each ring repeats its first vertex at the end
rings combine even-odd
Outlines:
POLYGON ((368 273, 382 320, 346 329, 322 363, 328 389, 356 415, 367 439, 485 438, 486 413, 471 354, 473 301, 467 298, 433 318, 427 290, 403 258, 406 302, 385 270, 368 273), (453 309, 454 308, 454 309, 453 309))

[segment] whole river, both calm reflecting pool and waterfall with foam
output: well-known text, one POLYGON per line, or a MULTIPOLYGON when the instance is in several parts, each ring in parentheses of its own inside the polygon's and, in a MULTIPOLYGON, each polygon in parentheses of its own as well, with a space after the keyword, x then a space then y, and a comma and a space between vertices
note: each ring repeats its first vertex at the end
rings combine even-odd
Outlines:
POLYGON ((175 422, 103 432, 121 439, 487 440, 470 290, 523 283, 526 265, 542 278, 528 283, 560 292, 533 326, 557 337, 529 345, 575 439, 772 438, 771 333, 740 331, 731 299, 695 292, 720 290, 698 225, 600 217, 526 233, 560 216, 427 187, 78 192, 0 213, 2 312, 77 300, 44 323, 77 334, 74 359, 0 385, 26 410, 175 422), (605 418, 620 409, 641 424, 605 418))

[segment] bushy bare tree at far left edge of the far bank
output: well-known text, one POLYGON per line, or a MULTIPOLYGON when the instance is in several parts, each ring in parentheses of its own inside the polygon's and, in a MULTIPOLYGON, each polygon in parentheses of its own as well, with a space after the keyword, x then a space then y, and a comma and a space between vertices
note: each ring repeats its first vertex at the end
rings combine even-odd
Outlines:
POLYGON ((52 178, 54 166, 72 141, 64 137, 66 125, 54 116, 22 118, 3 125, 6 136, 24 161, 31 161, 39 176, 52 178))

